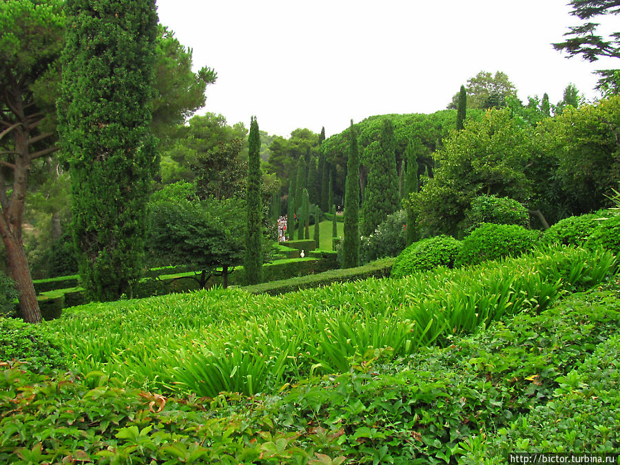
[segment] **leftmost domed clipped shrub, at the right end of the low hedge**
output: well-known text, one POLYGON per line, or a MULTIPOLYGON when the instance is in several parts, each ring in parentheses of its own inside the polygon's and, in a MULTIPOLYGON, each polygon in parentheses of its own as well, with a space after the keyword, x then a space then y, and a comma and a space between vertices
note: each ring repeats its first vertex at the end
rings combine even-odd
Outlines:
POLYGON ((451 236, 435 236, 413 242, 396 258, 392 278, 402 278, 416 271, 426 271, 440 266, 453 267, 461 242, 451 236))

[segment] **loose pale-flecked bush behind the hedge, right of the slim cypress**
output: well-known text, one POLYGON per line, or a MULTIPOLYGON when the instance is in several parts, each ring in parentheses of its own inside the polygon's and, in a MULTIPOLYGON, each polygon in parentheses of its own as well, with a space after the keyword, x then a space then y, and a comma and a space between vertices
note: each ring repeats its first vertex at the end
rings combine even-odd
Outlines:
POLYGON ((368 263, 384 257, 395 257, 406 247, 407 214, 404 210, 389 215, 370 236, 362 236, 360 261, 368 263))

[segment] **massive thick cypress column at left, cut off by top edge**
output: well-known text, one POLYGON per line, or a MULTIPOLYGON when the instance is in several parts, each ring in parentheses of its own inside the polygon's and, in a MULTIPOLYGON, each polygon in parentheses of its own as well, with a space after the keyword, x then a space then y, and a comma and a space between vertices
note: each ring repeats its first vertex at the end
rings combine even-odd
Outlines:
POLYGON ((59 130, 87 295, 131 295, 141 276, 150 181, 155 0, 66 0, 59 130))

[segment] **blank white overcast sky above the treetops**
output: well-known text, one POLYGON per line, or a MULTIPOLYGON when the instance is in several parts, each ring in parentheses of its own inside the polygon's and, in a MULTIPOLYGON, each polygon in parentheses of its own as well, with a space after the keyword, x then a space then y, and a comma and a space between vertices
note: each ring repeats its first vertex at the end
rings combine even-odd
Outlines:
POLYGON ((481 70, 506 72, 522 101, 547 92, 556 103, 568 83, 595 99, 592 70, 620 63, 569 60, 552 48, 579 24, 566 3, 157 0, 160 22, 193 49, 194 67, 218 73, 202 112, 246 127, 256 115, 261 130, 285 137, 442 110, 481 70))

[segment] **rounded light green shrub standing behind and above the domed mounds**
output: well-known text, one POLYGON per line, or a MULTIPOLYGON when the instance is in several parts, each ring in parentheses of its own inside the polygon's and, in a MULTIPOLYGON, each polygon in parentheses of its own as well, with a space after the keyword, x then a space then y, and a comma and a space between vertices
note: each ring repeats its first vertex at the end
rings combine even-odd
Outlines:
POLYGON ((528 210, 514 198, 477 196, 465 212, 462 229, 469 234, 484 223, 528 227, 528 210))

